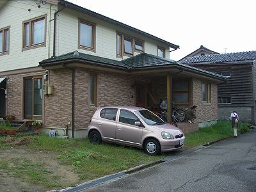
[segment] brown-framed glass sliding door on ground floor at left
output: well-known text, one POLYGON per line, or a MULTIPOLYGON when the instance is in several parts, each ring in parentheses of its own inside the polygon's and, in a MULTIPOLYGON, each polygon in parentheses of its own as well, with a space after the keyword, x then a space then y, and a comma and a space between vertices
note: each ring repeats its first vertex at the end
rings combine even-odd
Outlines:
POLYGON ((42 120, 42 76, 24 79, 24 118, 42 120))

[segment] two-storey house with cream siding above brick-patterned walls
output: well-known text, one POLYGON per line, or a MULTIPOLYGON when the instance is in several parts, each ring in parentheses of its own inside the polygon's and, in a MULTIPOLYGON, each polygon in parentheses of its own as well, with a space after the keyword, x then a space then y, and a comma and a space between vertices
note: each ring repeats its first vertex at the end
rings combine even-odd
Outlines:
POLYGON ((42 120, 43 131, 70 124, 83 138, 97 106, 162 98, 197 105, 200 126, 217 119, 225 77, 170 60, 178 45, 122 22, 63 0, 1 1, 0 34, 0 111, 42 120))

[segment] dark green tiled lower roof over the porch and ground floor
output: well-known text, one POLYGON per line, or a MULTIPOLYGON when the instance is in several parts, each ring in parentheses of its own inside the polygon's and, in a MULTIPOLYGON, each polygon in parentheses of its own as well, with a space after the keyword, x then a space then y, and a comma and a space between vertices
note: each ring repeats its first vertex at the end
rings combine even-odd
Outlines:
POLYGON ((81 63, 83 66, 86 67, 88 67, 89 64, 93 64, 93 66, 108 68, 111 67, 131 73, 137 73, 143 70, 156 69, 168 72, 169 70, 171 71, 175 69, 182 70, 184 72, 200 74, 200 76, 211 77, 212 79, 218 79, 218 81, 225 81, 227 79, 227 77, 221 76, 219 74, 215 74, 196 67, 191 67, 189 65, 180 64, 177 63, 177 61, 168 60, 166 58, 154 56, 145 52, 122 61, 117 61, 74 51, 63 54, 61 56, 56 56, 55 58, 43 60, 39 64, 42 68, 49 69, 58 68, 58 66, 61 67, 70 63, 81 63))

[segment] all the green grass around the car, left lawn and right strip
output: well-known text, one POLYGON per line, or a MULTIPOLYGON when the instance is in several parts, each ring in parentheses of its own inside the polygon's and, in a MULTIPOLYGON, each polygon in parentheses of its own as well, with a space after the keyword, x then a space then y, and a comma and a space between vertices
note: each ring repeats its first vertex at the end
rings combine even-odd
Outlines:
MULTIPOLYGON (((249 124, 239 122, 239 133, 247 132, 248 130, 249 124)), ((231 136, 233 136, 231 123, 219 121, 217 124, 186 134, 184 148, 195 147, 209 141, 231 136)), ((109 143, 92 145, 88 139, 63 140, 60 138, 49 138, 49 136, 43 134, 23 138, 15 137, 15 141, 11 138, 10 142, 8 142, 8 138, 0 137, 0 150, 10 146, 10 143, 12 146, 18 145, 17 143, 22 143, 21 141, 24 141, 24 138, 26 138, 26 141, 29 141, 26 142, 24 147, 36 151, 54 152, 56 157, 58 157, 57 161, 61 165, 72 166, 74 172, 82 180, 99 178, 172 155, 164 153, 162 156, 154 157, 148 156, 139 148, 109 143)), ((0 160, 0 169, 7 170, 12 173, 13 177, 19 177, 32 184, 38 184, 51 189, 61 187, 61 176, 54 174, 51 169, 42 163, 35 163, 28 159, 20 158, 11 159, 10 161, 0 160)))

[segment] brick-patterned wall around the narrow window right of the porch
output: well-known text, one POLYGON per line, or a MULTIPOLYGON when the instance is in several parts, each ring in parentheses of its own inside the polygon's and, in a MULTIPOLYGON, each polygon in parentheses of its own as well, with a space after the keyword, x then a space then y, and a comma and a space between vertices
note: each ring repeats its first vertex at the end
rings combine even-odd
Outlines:
POLYGON ((211 83, 211 103, 202 102, 202 81, 193 79, 193 105, 196 109, 196 122, 216 120, 218 118, 217 84, 211 83))

